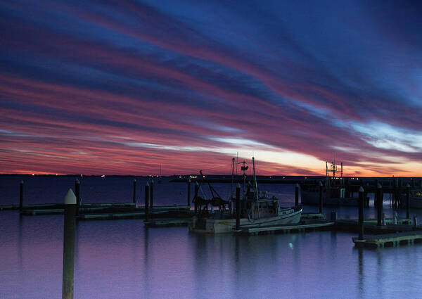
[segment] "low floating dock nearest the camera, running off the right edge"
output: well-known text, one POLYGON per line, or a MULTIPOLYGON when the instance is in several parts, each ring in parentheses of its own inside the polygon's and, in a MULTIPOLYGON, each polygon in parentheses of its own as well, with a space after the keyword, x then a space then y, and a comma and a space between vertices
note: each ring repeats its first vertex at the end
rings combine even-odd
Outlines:
POLYGON ((400 245, 414 245, 422 243, 422 231, 402 231, 395 234, 364 235, 363 240, 352 238, 357 248, 399 247, 400 245))

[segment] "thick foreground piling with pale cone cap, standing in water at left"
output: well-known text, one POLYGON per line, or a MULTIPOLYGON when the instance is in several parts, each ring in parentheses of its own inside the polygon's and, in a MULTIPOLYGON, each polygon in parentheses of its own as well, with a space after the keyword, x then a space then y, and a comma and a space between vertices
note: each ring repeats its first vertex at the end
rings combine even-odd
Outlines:
POLYGON ((75 212, 76 196, 69 189, 65 196, 65 227, 63 236, 63 299, 73 298, 75 273, 75 212))

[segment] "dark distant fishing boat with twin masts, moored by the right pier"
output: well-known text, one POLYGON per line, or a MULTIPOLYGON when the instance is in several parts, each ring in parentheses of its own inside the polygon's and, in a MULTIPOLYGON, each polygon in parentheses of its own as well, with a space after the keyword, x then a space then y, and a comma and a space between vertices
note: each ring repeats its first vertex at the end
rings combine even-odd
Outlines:
MULTIPOLYGON (((324 205, 357 206, 358 196, 350 196, 346 190, 343 163, 341 163, 340 177, 336 176, 336 172, 338 172, 338 167, 335 162, 331 162, 329 169, 326 162, 326 184, 322 187, 322 203, 324 205)), ((300 184, 300 198, 302 205, 318 205, 319 184, 302 182, 300 184)))

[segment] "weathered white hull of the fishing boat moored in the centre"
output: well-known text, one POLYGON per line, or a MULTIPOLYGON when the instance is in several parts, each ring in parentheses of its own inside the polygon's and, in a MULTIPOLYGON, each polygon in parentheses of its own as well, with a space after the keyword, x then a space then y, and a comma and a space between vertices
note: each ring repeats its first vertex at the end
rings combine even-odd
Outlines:
MULTIPOLYGON (((302 210, 298 210, 286 215, 278 215, 274 217, 264 217, 256 220, 241 218, 241 229, 247 227, 266 227, 269 225, 295 224, 300 222, 302 210)), ((195 217, 189 224, 189 231, 198 233, 224 234, 231 233, 236 227, 236 219, 207 219, 205 220, 205 228, 198 228, 195 217)))

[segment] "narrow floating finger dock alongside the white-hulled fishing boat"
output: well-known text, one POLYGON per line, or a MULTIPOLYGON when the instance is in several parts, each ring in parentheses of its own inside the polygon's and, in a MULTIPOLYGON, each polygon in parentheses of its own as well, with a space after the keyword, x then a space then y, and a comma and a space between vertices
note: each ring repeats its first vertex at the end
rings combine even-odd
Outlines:
POLYGON ((234 231, 234 234, 241 236, 252 236, 257 234, 290 234, 302 231, 316 231, 333 227, 334 222, 317 221, 305 222, 302 224, 271 225, 267 227, 248 227, 234 231))

